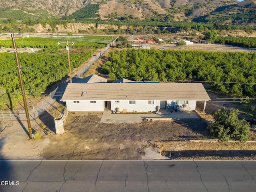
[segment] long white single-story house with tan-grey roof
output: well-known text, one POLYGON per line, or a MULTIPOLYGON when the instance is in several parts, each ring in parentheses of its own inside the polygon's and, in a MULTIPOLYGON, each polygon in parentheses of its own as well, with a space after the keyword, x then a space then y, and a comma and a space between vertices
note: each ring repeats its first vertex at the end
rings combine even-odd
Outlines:
POLYGON ((202 83, 70 83, 61 98, 73 112, 195 110, 210 100, 202 83))

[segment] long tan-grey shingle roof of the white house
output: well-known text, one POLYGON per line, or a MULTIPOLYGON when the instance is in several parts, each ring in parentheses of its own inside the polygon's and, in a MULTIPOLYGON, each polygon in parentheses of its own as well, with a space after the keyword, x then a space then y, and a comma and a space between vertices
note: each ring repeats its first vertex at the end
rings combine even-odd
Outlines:
POLYGON ((202 83, 72 83, 61 100, 210 100, 210 97, 202 83))

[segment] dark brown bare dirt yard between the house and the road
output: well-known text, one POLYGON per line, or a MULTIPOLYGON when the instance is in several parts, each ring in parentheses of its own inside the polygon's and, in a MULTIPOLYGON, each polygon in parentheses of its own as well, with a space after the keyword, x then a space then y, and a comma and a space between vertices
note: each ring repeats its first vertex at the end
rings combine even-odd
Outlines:
POLYGON ((43 157, 140 160, 152 141, 199 139, 205 138, 207 132, 206 122, 201 120, 105 124, 100 123, 101 116, 102 113, 69 114, 65 134, 50 138, 43 157))

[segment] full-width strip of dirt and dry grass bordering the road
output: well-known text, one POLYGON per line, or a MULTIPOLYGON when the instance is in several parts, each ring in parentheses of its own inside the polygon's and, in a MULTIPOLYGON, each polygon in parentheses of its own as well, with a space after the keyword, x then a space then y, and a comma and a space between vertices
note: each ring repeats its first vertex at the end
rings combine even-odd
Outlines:
MULTIPOLYGON (((1 123, 5 129, 0 132, 0 158, 141 160, 145 149, 151 148, 163 154, 171 151, 173 160, 256 160, 256 142, 189 142, 211 138, 204 119, 104 124, 100 123, 102 113, 74 113, 64 123, 65 133, 56 135, 51 132, 51 110, 32 121, 33 132, 38 131, 41 140, 28 138, 26 122, 1 123)), ((255 128, 249 140, 256 141, 255 128)))

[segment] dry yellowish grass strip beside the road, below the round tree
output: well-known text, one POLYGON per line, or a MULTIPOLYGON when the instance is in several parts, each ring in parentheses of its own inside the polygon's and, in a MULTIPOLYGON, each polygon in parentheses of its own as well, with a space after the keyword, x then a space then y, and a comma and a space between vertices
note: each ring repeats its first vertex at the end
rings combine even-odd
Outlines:
POLYGON ((173 160, 256 160, 256 142, 155 142, 173 160))

